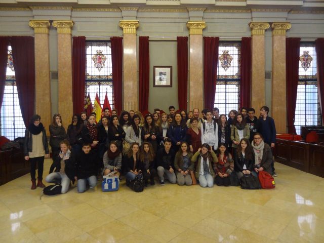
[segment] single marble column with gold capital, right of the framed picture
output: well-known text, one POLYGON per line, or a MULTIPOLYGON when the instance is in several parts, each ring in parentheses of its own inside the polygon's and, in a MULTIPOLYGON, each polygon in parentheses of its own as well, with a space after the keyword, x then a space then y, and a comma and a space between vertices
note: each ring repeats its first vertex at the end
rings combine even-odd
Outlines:
POLYGON ((189 52, 189 110, 204 109, 204 67, 203 67, 203 29, 206 21, 188 21, 190 36, 189 52))

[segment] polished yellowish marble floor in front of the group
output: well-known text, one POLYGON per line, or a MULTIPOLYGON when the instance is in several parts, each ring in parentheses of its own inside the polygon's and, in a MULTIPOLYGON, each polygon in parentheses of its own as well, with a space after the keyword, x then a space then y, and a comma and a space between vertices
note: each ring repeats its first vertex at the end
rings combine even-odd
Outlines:
POLYGON ((123 180, 116 192, 41 199, 25 175, 0 186, 0 242, 324 242, 324 179, 275 167, 273 190, 156 183, 135 193, 123 180))

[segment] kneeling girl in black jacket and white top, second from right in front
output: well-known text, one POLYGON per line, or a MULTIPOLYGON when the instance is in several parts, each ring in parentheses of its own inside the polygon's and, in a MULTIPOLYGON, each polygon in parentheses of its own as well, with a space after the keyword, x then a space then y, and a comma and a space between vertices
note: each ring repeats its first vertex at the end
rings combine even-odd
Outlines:
POLYGON ((245 174, 251 174, 255 164, 255 156, 249 139, 242 138, 234 156, 234 170, 240 179, 245 174))

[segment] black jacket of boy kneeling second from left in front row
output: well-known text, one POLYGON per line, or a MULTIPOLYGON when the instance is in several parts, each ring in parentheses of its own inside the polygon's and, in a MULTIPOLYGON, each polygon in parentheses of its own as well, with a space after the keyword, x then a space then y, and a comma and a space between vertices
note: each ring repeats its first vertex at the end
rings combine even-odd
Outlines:
POLYGON ((81 151, 75 156, 70 157, 72 164, 75 165, 75 175, 77 179, 86 179, 97 175, 97 154, 90 150, 89 153, 81 151))

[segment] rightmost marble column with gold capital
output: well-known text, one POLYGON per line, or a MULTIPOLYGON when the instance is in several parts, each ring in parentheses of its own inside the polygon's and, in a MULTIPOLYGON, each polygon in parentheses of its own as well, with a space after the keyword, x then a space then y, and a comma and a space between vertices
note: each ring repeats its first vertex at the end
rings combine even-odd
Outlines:
POLYGON ((286 109, 286 30, 290 23, 272 23, 271 116, 277 133, 287 133, 286 109), (280 87, 280 88, 279 88, 280 87))

